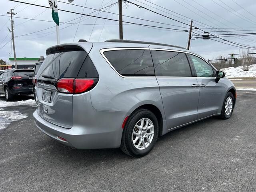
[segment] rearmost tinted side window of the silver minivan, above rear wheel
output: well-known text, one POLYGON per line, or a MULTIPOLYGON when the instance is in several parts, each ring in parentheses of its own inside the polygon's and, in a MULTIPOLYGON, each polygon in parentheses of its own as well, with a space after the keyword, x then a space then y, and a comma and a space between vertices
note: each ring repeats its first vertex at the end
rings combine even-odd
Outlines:
POLYGON ((123 76, 154 76, 150 50, 113 50, 104 55, 123 76))

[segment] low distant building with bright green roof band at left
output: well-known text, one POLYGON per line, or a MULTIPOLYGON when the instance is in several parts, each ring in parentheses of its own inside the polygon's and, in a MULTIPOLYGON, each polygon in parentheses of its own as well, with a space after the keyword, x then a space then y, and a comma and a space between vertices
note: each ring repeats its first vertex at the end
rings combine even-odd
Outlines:
MULTIPOLYGON (((10 60, 10 65, 15 68, 14 65, 14 58, 9 58, 10 60)), ((35 66, 35 63, 38 61, 44 60, 44 56, 41 56, 40 58, 16 58, 17 61, 17 68, 18 69, 23 69, 23 68, 28 68, 28 67, 33 67, 35 66)))

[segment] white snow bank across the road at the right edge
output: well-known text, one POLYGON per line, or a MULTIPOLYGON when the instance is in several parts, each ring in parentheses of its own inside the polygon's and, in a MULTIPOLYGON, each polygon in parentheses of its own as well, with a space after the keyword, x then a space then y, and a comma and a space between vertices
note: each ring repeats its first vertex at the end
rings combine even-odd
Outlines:
POLYGON ((256 77, 256 64, 249 71, 243 71, 241 66, 221 69, 226 72, 226 77, 256 77))

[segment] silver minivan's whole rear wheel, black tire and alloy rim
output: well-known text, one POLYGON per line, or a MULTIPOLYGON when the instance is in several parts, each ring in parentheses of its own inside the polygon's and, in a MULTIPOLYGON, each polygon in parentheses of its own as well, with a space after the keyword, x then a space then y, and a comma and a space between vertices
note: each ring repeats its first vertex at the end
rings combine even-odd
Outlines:
POLYGON ((156 144, 158 129, 154 113, 147 109, 137 110, 124 127, 121 150, 133 157, 145 156, 156 144))

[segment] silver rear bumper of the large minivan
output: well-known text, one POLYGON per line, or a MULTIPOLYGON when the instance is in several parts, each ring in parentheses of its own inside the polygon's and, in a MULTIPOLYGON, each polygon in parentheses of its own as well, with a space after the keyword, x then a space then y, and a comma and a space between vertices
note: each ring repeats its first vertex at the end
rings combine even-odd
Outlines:
MULTIPOLYGON (((109 112, 108 112, 109 113, 109 112)), ((113 114, 113 118, 114 118, 113 114)), ((99 149, 99 148, 118 148, 121 144, 122 128, 121 125, 116 129, 108 128, 108 124, 102 128, 86 128, 85 126, 73 126, 70 129, 54 125, 38 115, 37 110, 33 113, 36 126, 44 134, 54 138, 58 142, 77 149, 99 149), (57 136, 67 140, 60 140, 57 136)), ((97 122, 95 122, 97 125, 97 122)))

